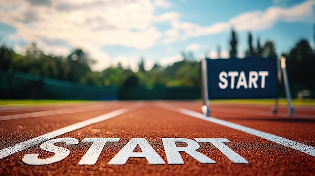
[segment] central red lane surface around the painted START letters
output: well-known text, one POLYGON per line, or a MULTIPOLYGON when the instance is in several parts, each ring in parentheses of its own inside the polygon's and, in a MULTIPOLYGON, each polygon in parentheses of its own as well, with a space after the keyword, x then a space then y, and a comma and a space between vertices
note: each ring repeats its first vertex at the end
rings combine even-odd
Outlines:
MULTIPOLYGON (((146 102, 146 104, 149 103, 146 102)), ((49 172, 82 175, 307 175, 314 171, 314 157, 307 154, 234 129, 149 105, 60 137, 74 137, 79 141, 85 137, 120 137, 121 140, 117 143, 107 143, 95 165, 77 165, 91 146, 91 143, 81 142, 77 146, 57 144, 71 151, 70 156, 61 162, 40 167, 22 163, 21 157, 26 153, 41 151, 39 145, 36 145, 14 154, 10 159, 5 159, 2 165, 11 164, 12 167, 6 166, 2 171, 8 173, 15 169, 19 173, 49 172), (226 145, 246 158, 249 164, 232 163, 213 145, 201 142, 198 151, 215 160, 216 164, 201 164, 189 155, 181 153, 185 161, 184 165, 149 165, 144 158, 130 158, 125 165, 108 165, 111 158, 131 138, 135 137, 146 138, 165 161, 166 154, 161 141, 162 137, 227 138, 231 143, 226 143, 226 145), (64 165, 67 167, 65 168, 64 165)), ((140 149, 136 148, 136 151, 140 149)), ((47 156, 51 156, 51 153, 44 152, 40 157, 47 156)))

